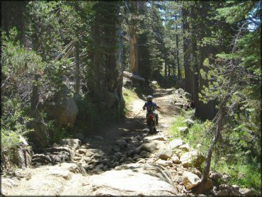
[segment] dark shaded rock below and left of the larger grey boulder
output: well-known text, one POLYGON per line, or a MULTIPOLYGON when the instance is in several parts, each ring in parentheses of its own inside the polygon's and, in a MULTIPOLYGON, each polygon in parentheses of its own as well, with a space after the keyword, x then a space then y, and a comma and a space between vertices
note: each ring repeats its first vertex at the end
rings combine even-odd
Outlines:
POLYGON ((28 133, 28 141, 32 142, 33 150, 41 150, 48 144, 47 125, 43 120, 34 119, 28 123, 28 127, 33 129, 28 133))

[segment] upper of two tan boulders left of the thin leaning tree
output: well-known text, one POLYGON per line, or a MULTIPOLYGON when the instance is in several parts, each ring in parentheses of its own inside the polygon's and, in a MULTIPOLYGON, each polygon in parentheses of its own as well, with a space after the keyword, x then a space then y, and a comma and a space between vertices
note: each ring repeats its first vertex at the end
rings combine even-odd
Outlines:
POLYGON ((205 157, 200 152, 195 150, 186 152, 181 155, 180 161, 183 167, 200 167, 200 165, 205 161, 205 157))

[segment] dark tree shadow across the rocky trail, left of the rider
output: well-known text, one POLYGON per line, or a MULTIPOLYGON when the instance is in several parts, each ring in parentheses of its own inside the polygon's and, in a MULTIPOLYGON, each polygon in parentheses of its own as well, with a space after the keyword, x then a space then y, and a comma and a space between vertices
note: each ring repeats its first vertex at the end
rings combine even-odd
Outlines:
MULTIPOLYGON (((143 144, 148 135, 145 118, 125 118, 118 124, 110 124, 95 134, 86 135, 82 145, 94 154, 86 158, 85 167, 89 174, 102 173, 123 164, 131 164, 142 158, 136 148, 143 144)), ((84 156, 85 157, 85 156, 84 156)))

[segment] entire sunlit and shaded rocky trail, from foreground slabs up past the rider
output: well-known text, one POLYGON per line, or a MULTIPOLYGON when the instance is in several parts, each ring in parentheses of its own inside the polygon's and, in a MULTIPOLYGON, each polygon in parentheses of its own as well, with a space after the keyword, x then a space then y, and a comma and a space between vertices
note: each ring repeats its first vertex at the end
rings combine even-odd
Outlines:
MULTIPOLYGON (((173 117, 188 107, 181 89, 157 89, 161 107, 158 133, 148 135, 144 101, 130 103, 124 123, 109 125, 96 135, 63 139, 33 155, 32 167, 1 176, 4 196, 190 196, 200 183, 205 157, 181 139, 169 140, 173 117)), ((215 186, 220 174, 210 174, 209 195, 241 196, 239 188, 215 186)), ((208 193, 209 192, 209 193, 208 193)), ((244 191, 243 191, 244 192, 244 191)), ((249 192, 249 191, 245 191, 249 192)))

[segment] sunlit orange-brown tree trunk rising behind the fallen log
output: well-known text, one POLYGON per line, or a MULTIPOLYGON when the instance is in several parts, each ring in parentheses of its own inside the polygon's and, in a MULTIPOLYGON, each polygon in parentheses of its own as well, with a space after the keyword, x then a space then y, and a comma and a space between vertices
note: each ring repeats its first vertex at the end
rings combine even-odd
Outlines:
POLYGON ((134 26, 131 28, 131 63, 130 71, 134 74, 138 74, 138 48, 137 48, 137 28, 134 26))

